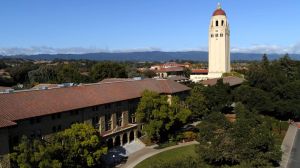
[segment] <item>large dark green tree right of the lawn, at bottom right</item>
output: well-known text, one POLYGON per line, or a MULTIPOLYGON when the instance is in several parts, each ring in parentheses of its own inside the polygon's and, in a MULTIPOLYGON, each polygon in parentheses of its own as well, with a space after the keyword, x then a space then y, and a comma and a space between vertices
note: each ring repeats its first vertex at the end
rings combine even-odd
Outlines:
POLYGON ((212 113, 200 123, 200 160, 213 167, 278 166, 281 144, 276 143, 270 131, 272 124, 241 103, 236 104, 234 111, 237 119, 233 123, 221 113, 212 113))

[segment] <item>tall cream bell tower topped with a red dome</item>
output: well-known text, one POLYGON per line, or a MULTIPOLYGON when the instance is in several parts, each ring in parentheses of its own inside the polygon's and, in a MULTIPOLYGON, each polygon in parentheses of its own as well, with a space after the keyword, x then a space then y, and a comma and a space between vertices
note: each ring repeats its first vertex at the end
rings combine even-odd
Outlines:
POLYGON ((209 25, 208 76, 219 78, 230 72, 230 30, 226 13, 220 3, 214 11, 209 25))

